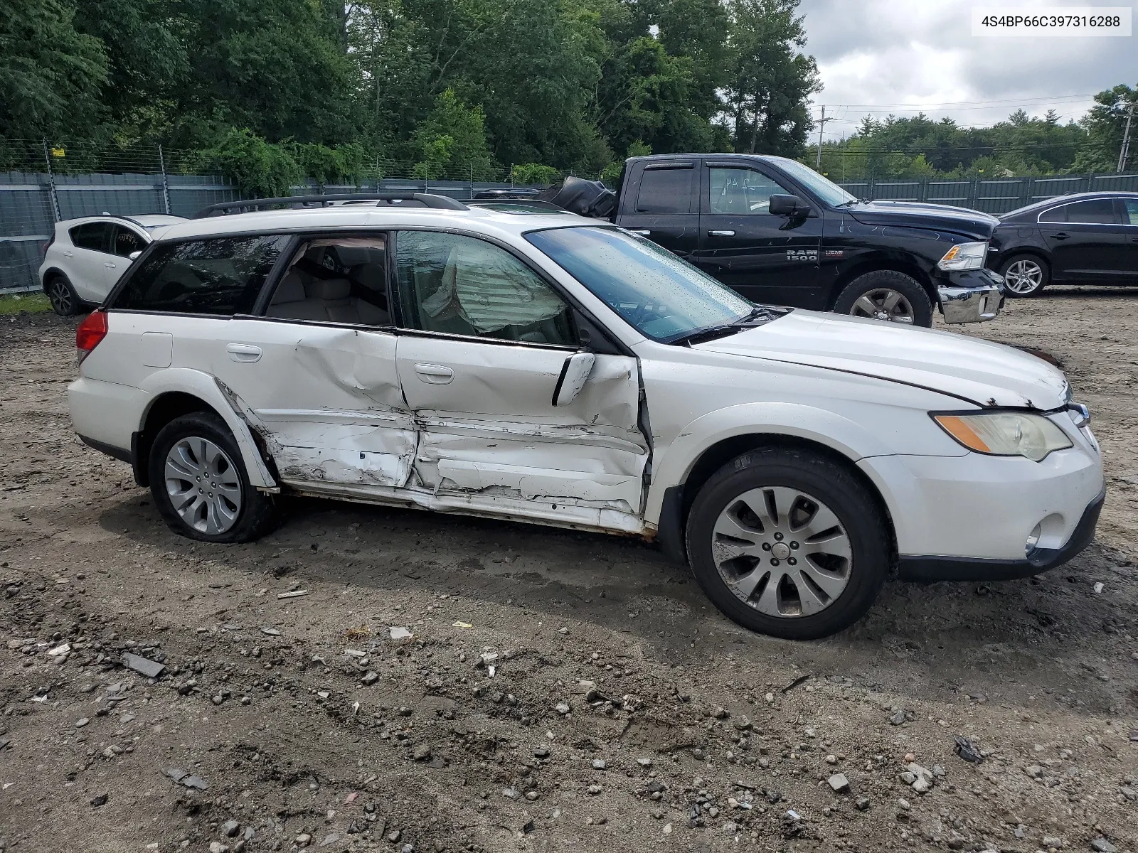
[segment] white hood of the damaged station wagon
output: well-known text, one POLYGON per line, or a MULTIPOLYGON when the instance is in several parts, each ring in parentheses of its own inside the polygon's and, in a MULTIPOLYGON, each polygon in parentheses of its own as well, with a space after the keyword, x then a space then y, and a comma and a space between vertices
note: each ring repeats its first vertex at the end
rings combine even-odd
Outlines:
POLYGON ((1041 411, 1067 401, 1063 372, 1036 356, 956 332, 795 309, 695 350, 875 376, 978 406, 1041 411))

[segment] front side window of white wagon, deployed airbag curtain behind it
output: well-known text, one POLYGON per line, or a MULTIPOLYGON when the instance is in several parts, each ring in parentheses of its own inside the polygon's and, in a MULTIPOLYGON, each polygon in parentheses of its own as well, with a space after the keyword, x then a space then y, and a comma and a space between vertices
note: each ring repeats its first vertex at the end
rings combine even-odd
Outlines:
POLYGON ((576 345, 566 301, 494 243, 461 234, 401 231, 395 242, 403 325, 531 343, 576 345))

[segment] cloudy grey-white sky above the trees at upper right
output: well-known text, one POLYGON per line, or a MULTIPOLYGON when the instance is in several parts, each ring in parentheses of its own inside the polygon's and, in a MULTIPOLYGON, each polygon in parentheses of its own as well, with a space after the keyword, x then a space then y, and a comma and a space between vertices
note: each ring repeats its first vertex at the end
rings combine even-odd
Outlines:
MULTIPOLYGON (((1096 0, 1082 0, 1090 5, 1096 0)), ((1138 0, 1098 0, 1130 6, 1138 0)), ((871 110, 884 118, 950 116, 989 125, 1016 107, 1042 115, 1053 107, 1078 118, 1095 92, 1138 84, 1138 35, 1130 38, 981 38, 972 35, 971 7, 1015 7, 1022 0, 802 0, 809 41, 826 105, 826 139, 852 133, 871 110)), ((1031 0, 1030 6, 1073 2, 1031 0)), ((1138 9, 1132 13, 1138 27, 1138 9)))

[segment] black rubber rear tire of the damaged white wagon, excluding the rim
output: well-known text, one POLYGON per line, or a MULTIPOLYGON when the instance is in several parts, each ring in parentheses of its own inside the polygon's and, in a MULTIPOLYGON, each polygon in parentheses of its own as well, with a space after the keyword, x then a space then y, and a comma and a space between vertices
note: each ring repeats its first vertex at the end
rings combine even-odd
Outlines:
MULTIPOLYGON (((277 507, 272 496, 263 495, 249 485, 249 475, 245 470, 245 463, 241 459, 241 452, 237 447, 237 441, 233 440, 233 436, 225 425, 225 422, 213 412, 191 412, 188 415, 175 417, 163 426, 150 447, 148 466, 150 471, 150 492, 154 495, 155 506, 158 507, 162 517, 175 533, 208 543, 248 543, 259 539, 272 530, 275 524, 277 507), (212 442, 228 456, 228 459, 223 459, 224 464, 221 470, 236 474, 236 478, 231 477, 230 479, 236 479, 239 485, 240 503, 238 504, 231 527, 220 532, 212 532, 193 527, 179 513, 179 510, 174 505, 174 499, 167 489, 166 457, 174 446, 183 439, 205 439, 212 442)), ((221 474, 218 474, 218 480, 221 480, 221 474)), ((173 482, 173 478, 171 481, 173 482)), ((189 481, 185 480, 185 482, 189 481)), ((207 482, 201 483, 204 489, 209 488, 207 482)), ((206 492, 204 489, 198 489, 199 494, 208 494, 209 497, 213 496, 213 492, 206 492)), ((190 492, 192 492, 192 487, 184 492, 188 495, 184 503, 189 503, 193 498, 193 495, 190 492)), ((221 490, 217 494, 221 495, 221 490)), ((203 503, 213 503, 206 502, 205 497, 200 499, 203 503)), ((206 515, 208 516, 209 514, 207 507, 206 515)), ((208 524, 207 521, 205 523, 208 524)))

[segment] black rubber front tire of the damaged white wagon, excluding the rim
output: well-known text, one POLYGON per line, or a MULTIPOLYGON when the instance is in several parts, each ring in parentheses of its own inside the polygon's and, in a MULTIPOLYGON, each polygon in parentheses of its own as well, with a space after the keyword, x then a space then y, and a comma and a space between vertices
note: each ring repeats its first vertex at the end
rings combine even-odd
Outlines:
MULTIPOLYGON (((758 494, 765 496, 770 492, 760 491, 758 494)), ((794 504, 794 506, 800 505, 794 504)), ((806 506, 808 507, 809 504, 807 503, 806 506)), ((780 512, 782 512, 781 508, 780 512)), ((792 514, 791 511, 785 514, 787 529, 793 527, 790 517, 792 514)), ((806 528, 800 529, 805 530, 806 528)), ((830 530, 833 531, 834 528, 830 528, 830 530)), ((778 533, 770 535, 780 540, 783 538, 778 533)), ((793 533, 789 536, 793 536, 793 533)), ((815 536, 813 539, 818 541, 820 537, 815 536)), ((752 541, 757 543, 757 540, 752 541)), ((810 553, 808 550, 809 541, 803 540, 801 546, 798 543, 789 544, 795 548, 801 547, 801 550, 792 552, 792 554, 798 555, 803 569, 808 565, 817 568, 814 560, 809 564, 806 562, 806 555, 810 553)), ((805 450, 782 448, 762 448, 745 453, 719 469, 703 485, 695 496, 687 516, 686 545, 687 557, 695 580, 708 598, 726 616, 752 631, 784 639, 827 637, 865 615, 889 573, 891 553, 889 530, 883 512, 879 508, 874 496, 853 474, 842 465, 823 456, 805 450), (728 544, 726 545, 728 550, 724 550, 723 543, 732 540, 725 540, 721 535, 717 537, 715 532, 716 524, 721 517, 720 514, 734 513, 737 512, 734 507, 745 506, 741 503, 741 498, 752 489, 777 488, 800 490, 820 502, 823 510, 828 508, 836 516, 840 524, 838 532, 844 535, 849 547, 850 558, 843 566, 835 566, 836 571, 830 575, 840 575, 840 579, 844 581, 844 587, 840 594, 830 599, 828 605, 816 613, 768 615, 758 610, 759 606, 762 606, 762 599, 766 597, 765 593, 770 583, 769 579, 774 577, 772 565, 778 565, 778 561, 768 556, 776 552, 767 548, 766 545, 762 545, 765 552, 759 550, 761 558, 754 561, 757 565, 751 570, 765 573, 760 577, 765 577, 766 580, 760 580, 758 586, 753 587, 753 591, 750 593, 747 601, 733 591, 716 564, 714 549, 719 548, 718 553, 723 555, 729 554, 729 548, 733 547, 728 544)), ((757 545, 751 547, 758 550, 757 545)), ((745 560, 751 558, 745 557, 745 560)), ((734 562, 737 561, 726 560, 724 565, 734 562)), ((793 558, 785 557, 784 562, 795 563, 793 558)), ((831 565, 834 564, 831 563, 831 565)), ((786 568, 780 571, 801 572, 802 570, 786 568)), ((748 574, 748 577, 750 575, 748 574)), ((811 579, 814 577, 818 577, 818 573, 811 574, 811 579)), ((774 589, 773 594, 777 595, 785 588, 780 586, 774 589)), ((780 603, 781 601, 780 597, 780 603)), ((806 607, 802 610, 805 612, 806 607)))

